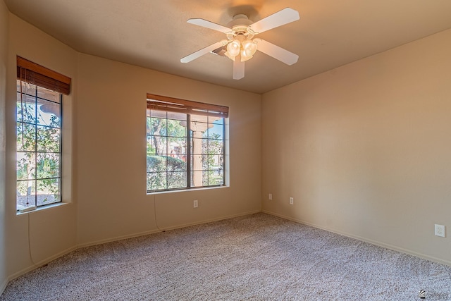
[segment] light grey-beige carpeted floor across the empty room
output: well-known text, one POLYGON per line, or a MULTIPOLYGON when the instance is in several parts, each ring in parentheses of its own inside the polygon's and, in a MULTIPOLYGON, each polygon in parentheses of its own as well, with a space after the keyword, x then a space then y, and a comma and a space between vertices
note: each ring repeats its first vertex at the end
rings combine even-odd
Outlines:
POLYGON ((85 247, 0 300, 451 300, 451 267, 268 214, 85 247))

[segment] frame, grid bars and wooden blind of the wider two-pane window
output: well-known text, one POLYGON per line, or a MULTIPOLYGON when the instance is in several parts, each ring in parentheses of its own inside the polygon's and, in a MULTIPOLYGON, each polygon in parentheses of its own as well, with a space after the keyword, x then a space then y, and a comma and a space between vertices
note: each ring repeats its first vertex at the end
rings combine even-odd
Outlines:
MULTIPOLYGON (((215 104, 205 104, 205 103, 201 103, 201 102, 192 102, 189 100, 185 100, 185 99, 176 99, 173 97, 164 97, 161 95, 155 95, 155 94, 147 94, 147 115, 146 118, 152 118, 152 111, 160 111, 160 112, 166 112, 166 121, 168 120, 175 120, 172 118, 168 118, 168 113, 183 113, 186 116, 186 130, 185 130, 185 149, 186 149, 186 156, 185 156, 185 164, 186 164, 186 171, 185 172, 185 176, 186 176, 186 185, 183 187, 179 187, 179 188, 168 188, 168 183, 166 182, 166 188, 163 189, 149 189, 149 185, 148 185, 148 181, 149 181, 149 173, 157 173, 157 172, 149 172, 149 163, 148 163, 148 159, 147 159, 147 163, 146 163, 146 178, 147 178, 147 185, 146 185, 146 190, 147 193, 154 193, 154 192, 170 192, 170 191, 183 191, 183 190, 192 190, 192 189, 202 189, 202 188, 218 188, 218 187, 223 187, 226 186, 226 166, 228 166, 228 164, 226 164, 226 149, 228 149, 226 143, 226 126, 228 126, 228 107, 227 106, 218 106, 215 104), (192 152, 194 152, 194 149, 192 149, 192 142, 193 142, 193 137, 192 137, 192 116, 205 116, 206 118, 206 122, 200 122, 200 123, 205 123, 207 129, 209 128, 209 125, 212 125, 212 127, 214 127, 215 124, 218 123, 214 123, 216 122, 218 119, 216 119, 216 121, 209 121, 209 118, 221 118, 221 124, 222 124, 222 133, 221 133, 221 154, 219 154, 219 156, 222 156, 222 162, 221 162, 221 168, 220 170, 222 170, 222 180, 221 180, 221 184, 216 184, 216 185, 196 185, 194 186, 194 183, 192 183, 192 177, 194 177, 194 172, 202 172, 202 182, 203 182, 203 177, 204 177, 204 172, 207 172, 207 177, 209 176, 209 172, 211 171, 209 168, 204 169, 202 168, 201 170, 196 170, 194 171, 194 166, 193 166, 193 156, 194 155, 200 155, 200 156, 209 156, 209 154, 203 154, 202 150, 201 150, 201 154, 192 154, 192 152)), ((147 123, 147 122, 146 122, 147 123)), ((148 124, 148 123, 147 123, 148 124)), ((148 125, 147 125, 148 126, 148 125)), ((147 141, 149 139, 149 137, 154 137, 154 135, 149 134, 149 128, 147 128, 147 132, 146 132, 146 137, 147 137, 147 141)), ((202 132, 204 133, 204 132, 202 132)), ((167 133, 166 133, 167 135, 167 133)), ((159 135, 156 135, 159 136, 159 135)), ((166 136, 167 137, 171 137, 171 136, 166 136)), ((210 137, 207 135, 206 138, 202 137, 202 140, 206 140, 207 145, 209 145, 209 140, 210 137)), ((147 143, 148 145, 148 143, 147 143)), ((202 149, 202 146, 201 146, 202 149)), ((166 148, 166 158, 168 157, 168 149, 166 148)), ((149 157, 149 153, 146 152, 146 156, 147 158, 149 157)), ((201 161, 202 164, 202 161, 201 161)), ((161 173, 166 173, 166 178, 167 178, 167 174, 169 171, 166 172, 161 172, 161 173)), ((202 183, 203 184, 203 183, 202 183)))

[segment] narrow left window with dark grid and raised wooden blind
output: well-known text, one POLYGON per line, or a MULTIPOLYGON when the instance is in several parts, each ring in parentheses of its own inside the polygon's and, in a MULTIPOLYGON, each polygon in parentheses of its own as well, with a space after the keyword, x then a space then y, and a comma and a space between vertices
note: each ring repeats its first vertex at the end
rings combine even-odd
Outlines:
POLYGON ((68 94, 70 78, 60 82, 63 75, 20 57, 17 63, 16 208, 27 211, 61 202, 60 92, 68 94))

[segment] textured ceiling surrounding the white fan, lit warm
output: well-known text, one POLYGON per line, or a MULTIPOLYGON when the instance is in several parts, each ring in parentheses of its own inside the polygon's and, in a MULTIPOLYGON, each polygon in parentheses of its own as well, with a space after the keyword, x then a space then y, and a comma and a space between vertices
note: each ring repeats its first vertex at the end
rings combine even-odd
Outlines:
POLYGON ((450 0, 5 0, 11 13, 85 54, 251 92, 297 80, 451 28, 450 0), (233 80, 233 62, 206 54, 221 32, 186 23, 204 18, 227 25, 245 13, 253 21, 285 7, 300 20, 259 35, 299 55, 287 66, 259 51, 233 80))

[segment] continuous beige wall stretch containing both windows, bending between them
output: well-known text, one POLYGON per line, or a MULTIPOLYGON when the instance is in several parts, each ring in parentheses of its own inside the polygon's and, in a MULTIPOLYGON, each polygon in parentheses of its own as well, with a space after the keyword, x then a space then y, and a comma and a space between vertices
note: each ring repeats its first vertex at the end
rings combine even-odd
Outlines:
POLYGON ((63 98, 65 204, 17 215, 16 180, 6 179, 9 278, 82 245, 159 231, 156 221, 176 228, 260 211, 259 94, 79 54, 11 13, 6 25, 6 174, 16 174, 16 55, 73 80, 63 98), (146 194, 147 92, 230 107, 229 187, 146 194))

